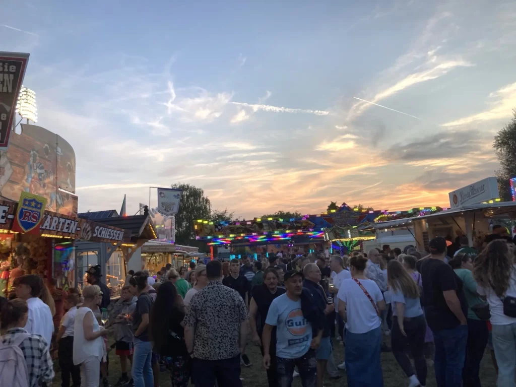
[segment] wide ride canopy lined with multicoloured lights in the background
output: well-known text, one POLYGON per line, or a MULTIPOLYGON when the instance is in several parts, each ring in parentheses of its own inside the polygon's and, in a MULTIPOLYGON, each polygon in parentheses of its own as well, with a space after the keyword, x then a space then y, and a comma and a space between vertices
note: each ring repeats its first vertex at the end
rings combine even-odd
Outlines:
POLYGON ((416 207, 408 211, 351 208, 342 203, 338 209, 300 218, 254 218, 234 222, 194 221, 196 238, 208 245, 277 244, 288 240, 320 243, 322 241, 356 241, 374 239, 371 232, 352 231, 374 222, 411 218, 443 211, 441 207, 416 207))

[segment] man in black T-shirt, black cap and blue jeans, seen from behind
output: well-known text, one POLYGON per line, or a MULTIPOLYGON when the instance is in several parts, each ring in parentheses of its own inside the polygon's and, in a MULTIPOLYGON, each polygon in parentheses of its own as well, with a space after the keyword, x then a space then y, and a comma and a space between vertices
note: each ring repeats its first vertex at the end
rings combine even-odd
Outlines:
POLYGON ((439 236, 428 244, 430 256, 417 263, 423 281, 423 306, 436 345, 438 386, 460 387, 467 342, 467 303, 462 281, 444 262, 446 239, 439 236))

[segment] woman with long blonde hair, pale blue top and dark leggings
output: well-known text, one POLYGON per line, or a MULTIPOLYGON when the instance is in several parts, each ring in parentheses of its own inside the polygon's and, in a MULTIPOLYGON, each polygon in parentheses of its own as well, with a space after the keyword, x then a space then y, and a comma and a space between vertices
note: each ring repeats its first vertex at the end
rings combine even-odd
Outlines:
POLYGON ((426 385, 427 368, 423 350, 426 320, 421 308, 420 288, 396 260, 387 265, 387 283, 393 311, 392 352, 409 378, 409 387, 426 385), (407 347, 412 351, 417 376, 407 356, 407 347))

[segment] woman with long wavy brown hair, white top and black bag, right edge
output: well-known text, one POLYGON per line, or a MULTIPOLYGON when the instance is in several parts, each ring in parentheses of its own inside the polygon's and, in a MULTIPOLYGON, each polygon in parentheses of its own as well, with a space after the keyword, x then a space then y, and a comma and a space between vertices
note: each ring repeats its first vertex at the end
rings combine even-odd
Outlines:
POLYGON ((513 263, 512 241, 510 248, 504 239, 493 240, 475 259, 473 277, 477 293, 486 296, 491 310, 493 347, 498 363, 498 386, 514 387, 516 364, 516 317, 510 300, 516 297, 516 265, 513 263), (505 304, 505 308, 504 308, 505 304), (507 314, 506 314, 507 313, 507 314), (514 315, 514 314, 513 314, 514 315))

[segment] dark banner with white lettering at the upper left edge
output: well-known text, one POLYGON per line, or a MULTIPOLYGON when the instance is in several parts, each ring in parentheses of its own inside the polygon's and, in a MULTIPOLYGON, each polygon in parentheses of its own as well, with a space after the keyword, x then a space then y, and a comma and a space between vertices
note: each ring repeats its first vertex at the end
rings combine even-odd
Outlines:
POLYGON ((6 150, 29 54, 0 51, 0 150, 6 150))

